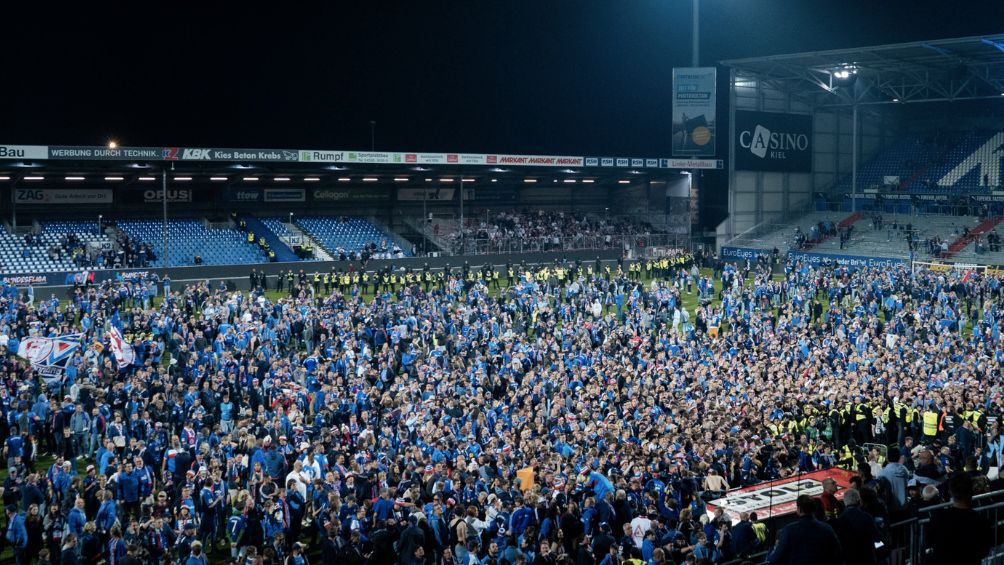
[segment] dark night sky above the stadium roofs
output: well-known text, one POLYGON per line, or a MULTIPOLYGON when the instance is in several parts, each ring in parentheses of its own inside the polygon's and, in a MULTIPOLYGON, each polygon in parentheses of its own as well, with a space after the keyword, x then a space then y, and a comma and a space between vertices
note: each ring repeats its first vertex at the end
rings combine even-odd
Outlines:
MULTIPOLYGON (((691 56, 690 0, 20 4, 0 36, 10 144, 362 150, 375 120, 378 150, 668 156, 670 75, 691 56)), ((987 0, 701 16, 703 64, 1004 31, 987 0)))

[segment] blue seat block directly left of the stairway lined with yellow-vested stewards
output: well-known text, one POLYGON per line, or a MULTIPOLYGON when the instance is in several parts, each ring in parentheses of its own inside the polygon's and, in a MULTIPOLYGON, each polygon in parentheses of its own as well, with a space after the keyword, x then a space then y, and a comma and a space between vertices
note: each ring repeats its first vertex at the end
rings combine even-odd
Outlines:
MULTIPOLYGON (((118 229, 132 238, 150 242, 158 259, 153 266, 164 266, 164 228, 157 220, 119 220, 118 229)), ((185 219, 168 222, 170 239, 169 267, 193 265, 201 257, 204 265, 236 265, 261 263, 265 253, 257 244, 232 228, 207 228, 200 220, 185 219)))

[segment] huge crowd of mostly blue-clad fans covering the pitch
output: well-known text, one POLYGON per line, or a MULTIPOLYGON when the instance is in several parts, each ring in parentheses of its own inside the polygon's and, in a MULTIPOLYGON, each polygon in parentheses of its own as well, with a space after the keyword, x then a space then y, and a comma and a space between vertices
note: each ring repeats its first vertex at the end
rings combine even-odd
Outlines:
POLYGON ((337 275, 160 281, 157 305, 149 282, 5 287, 17 562, 866 563, 872 529, 917 497, 965 506, 990 485, 959 477, 1004 457, 997 277, 682 252, 337 275), (73 332, 62 377, 13 355, 73 332), (837 465, 860 474, 845 509, 798 503, 816 538, 709 512, 837 465))

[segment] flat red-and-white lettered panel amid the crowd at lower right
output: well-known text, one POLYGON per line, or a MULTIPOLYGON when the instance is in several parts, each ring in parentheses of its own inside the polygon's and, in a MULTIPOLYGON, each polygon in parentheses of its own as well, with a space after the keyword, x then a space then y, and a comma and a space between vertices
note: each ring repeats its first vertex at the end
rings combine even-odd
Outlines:
POLYGON ((842 499, 843 491, 850 487, 851 477, 854 477, 854 474, 849 471, 828 469, 736 489, 714 502, 709 502, 708 512, 713 513, 715 509, 721 508, 732 517, 733 523, 739 521, 739 514, 743 512, 756 512, 760 520, 794 514, 795 501, 800 495, 817 497, 822 494, 824 479, 836 482, 836 498, 842 499))

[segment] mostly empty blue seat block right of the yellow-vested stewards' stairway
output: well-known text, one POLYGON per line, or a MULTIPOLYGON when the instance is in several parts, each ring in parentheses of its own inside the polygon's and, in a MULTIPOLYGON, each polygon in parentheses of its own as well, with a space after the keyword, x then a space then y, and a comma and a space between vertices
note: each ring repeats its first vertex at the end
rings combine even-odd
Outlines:
POLYGON ((397 245, 391 234, 364 218, 308 216, 297 217, 294 222, 335 258, 351 253, 367 257, 411 256, 411 251, 397 245))

